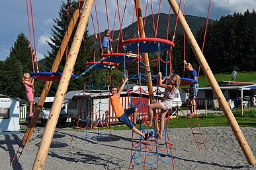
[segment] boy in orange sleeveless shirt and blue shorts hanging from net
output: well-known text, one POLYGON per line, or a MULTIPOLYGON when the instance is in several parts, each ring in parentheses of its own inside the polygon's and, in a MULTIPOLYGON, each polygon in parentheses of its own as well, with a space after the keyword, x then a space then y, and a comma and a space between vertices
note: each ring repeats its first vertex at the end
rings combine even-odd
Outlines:
POLYGON ((111 85, 110 86, 110 93, 112 96, 110 97, 110 103, 112 105, 112 109, 114 113, 116 114, 116 117, 118 118, 118 121, 124 123, 128 127, 130 127, 136 134, 139 134, 144 138, 144 140, 148 140, 149 137, 151 137, 150 133, 142 133, 138 128, 134 126, 134 123, 137 121, 137 115, 138 115, 138 109, 136 107, 130 107, 129 109, 124 109, 122 107, 121 101, 120 101, 120 94, 122 90, 124 89, 124 85, 128 81, 128 78, 123 78, 122 79, 122 84, 117 90, 117 86, 111 85), (133 117, 133 122, 129 120, 129 116, 132 115, 133 117))

